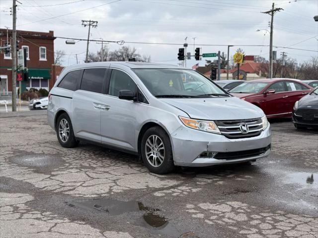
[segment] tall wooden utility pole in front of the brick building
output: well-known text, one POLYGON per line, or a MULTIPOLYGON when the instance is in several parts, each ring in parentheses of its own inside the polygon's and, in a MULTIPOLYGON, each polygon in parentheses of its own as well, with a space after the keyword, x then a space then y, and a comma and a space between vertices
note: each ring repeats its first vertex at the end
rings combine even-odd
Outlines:
POLYGON ((16 112, 16 1, 12 2, 12 112, 16 112))

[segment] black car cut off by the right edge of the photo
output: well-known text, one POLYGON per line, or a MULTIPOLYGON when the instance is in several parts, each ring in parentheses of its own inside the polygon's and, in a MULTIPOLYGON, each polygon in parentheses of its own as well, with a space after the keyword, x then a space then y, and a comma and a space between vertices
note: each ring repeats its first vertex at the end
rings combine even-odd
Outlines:
POLYGON ((293 109, 295 127, 318 127, 318 87, 297 101, 293 109))

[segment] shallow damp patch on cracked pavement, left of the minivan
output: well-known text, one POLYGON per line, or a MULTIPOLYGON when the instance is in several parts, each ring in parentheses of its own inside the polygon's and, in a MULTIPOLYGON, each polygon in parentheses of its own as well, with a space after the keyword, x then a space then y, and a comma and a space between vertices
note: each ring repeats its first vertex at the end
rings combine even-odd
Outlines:
POLYGON ((33 168, 59 167, 64 163, 64 160, 62 160, 61 157, 56 154, 17 155, 11 157, 10 161, 20 166, 33 168))

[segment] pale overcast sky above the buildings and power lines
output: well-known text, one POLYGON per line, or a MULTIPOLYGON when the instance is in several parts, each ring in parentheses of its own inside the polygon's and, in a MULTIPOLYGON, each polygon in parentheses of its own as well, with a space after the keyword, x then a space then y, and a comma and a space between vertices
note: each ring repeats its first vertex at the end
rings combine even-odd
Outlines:
MULTIPOLYGON (((270 15, 261 13, 271 8, 273 0, 19 0, 17 29, 28 31, 54 31, 55 36, 87 38, 88 28, 81 20, 98 21, 91 28, 90 39, 109 41, 187 43, 187 52, 193 54, 195 45, 236 45, 230 48, 230 56, 240 47, 245 55, 261 55, 268 59, 269 47, 237 45, 269 45, 270 15), (66 3, 66 4, 63 4, 66 3), (58 5, 57 5, 58 4, 58 5), (61 16, 62 15, 62 16, 61 16), (51 19, 48 19, 51 18, 51 19)), ((294 47, 318 51, 318 0, 275 0, 275 7, 284 10, 274 16, 275 46, 294 47)), ((12 28, 9 7, 12 0, 0 0, 0 28, 12 28)), ((146 45, 125 43, 135 47, 141 55, 150 55, 152 61, 178 63, 177 45, 146 45)), ((110 43, 110 50, 120 46, 110 43)), ((89 44, 89 51, 96 52, 101 45, 89 44)), ((201 47, 201 46, 200 46, 201 47)), ((85 58, 86 42, 66 45, 65 40, 55 40, 55 51, 64 50, 64 65, 80 62, 85 58)), ((227 53, 227 46, 202 46, 203 53, 227 53)), ((274 48, 275 50, 275 48, 274 48)), ((301 62, 317 57, 317 52, 276 49, 277 56, 287 52, 301 62)), ((210 58, 215 60, 216 58, 210 58)), ((189 60, 187 66, 205 60, 189 60)))

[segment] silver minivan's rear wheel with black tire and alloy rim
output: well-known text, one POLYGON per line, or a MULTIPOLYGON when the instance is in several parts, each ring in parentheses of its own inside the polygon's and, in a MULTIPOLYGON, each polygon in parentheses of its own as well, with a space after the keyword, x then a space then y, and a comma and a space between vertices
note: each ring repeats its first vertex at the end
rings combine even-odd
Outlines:
POLYGON ((65 148, 73 148, 78 145, 69 115, 63 113, 56 121, 56 135, 60 145, 65 148))

